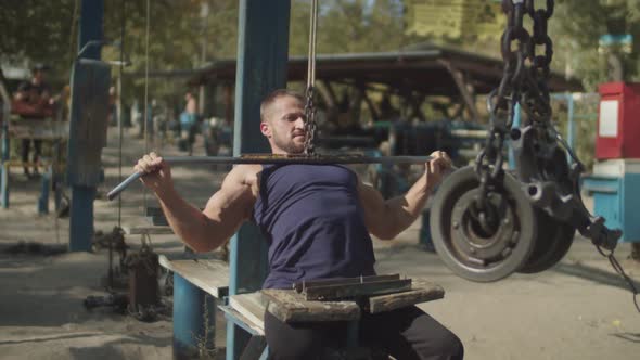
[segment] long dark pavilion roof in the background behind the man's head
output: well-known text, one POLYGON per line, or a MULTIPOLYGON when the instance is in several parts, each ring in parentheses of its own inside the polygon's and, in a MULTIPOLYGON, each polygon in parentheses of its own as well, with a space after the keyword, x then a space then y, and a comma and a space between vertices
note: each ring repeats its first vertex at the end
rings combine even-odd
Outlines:
MULTIPOLYGON (((320 80, 382 83, 394 89, 412 90, 433 95, 459 95, 451 69, 463 74, 478 94, 497 88, 502 78, 501 59, 478 55, 452 48, 430 46, 430 49, 380 52, 320 54, 316 60, 316 77, 320 80)), ((305 81, 307 57, 292 56, 287 66, 290 81, 305 81)), ((190 85, 208 82, 233 83, 235 60, 218 60, 195 72, 190 85)), ((552 92, 581 91, 576 79, 552 73, 552 92)))

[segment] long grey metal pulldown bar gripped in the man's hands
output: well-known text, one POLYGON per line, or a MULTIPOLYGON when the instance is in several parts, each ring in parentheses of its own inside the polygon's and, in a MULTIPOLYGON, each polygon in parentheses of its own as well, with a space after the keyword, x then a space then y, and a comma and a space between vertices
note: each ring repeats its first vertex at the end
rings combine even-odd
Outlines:
MULTIPOLYGON (((328 165, 328 164, 424 164, 431 160, 431 156, 302 156, 302 155, 243 155, 240 157, 232 156, 176 156, 165 157, 165 162, 171 165, 199 165, 199 164, 306 164, 306 165, 328 165)), ((140 179, 142 175, 135 172, 125 181, 120 182, 106 194, 108 200, 114 200, 120 192, 129 187, 133 181, 140 179)))

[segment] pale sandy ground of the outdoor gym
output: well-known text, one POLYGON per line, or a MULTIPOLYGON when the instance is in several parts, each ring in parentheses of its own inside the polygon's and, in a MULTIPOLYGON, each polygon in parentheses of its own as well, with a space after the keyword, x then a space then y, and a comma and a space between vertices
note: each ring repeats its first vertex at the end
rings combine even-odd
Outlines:
MULTIPOLYGON (((116 139, 111 129, 101 192, 117 183, 116 139)), ((125 141, 126 175, 144 145, 131 136, 125 141)), ((158 147, 178 154, 174 146, 158 147)), ((111 309, 82 307, 87 296, 105 294, 106 250, 50 256, 7 252, 20 241, 68 242, 68 219, 38 216, 39 182, 14 172, 11 208, 0 209, 0 358, 169 359, 170 318, 144 323, 111 309)), ((175 169, 174 176, 179 191, 199 206, 220 182, 220 172, 206 167, 175 169)), ((144 223, 143 198, 139 184, 127 190, 123 224, 144 223)), ((110 231, 118 223, 118 202, 97 200, 94 208, 97 230, 110 231)), ((640 359, 640 313, 628 288, 588 241, 576 237, 568 256, 543 273, 481 284, 453 275, 437 256, 424 252, 419 231, 420 221, 394 242, 375 242, 379 272, 425 277, 443 285, 445 299, 422 308, 460 336, 465 359, 640 359)), ((129 236, 127 242, 137 247, 140 239, 129 236)), ((182 250, 174 236, 156 235, 152 243, 159 254, 182 250)), ((640 266, 627 259, 629 253, 628 244, 622 244, 617 256, 639 280, 640 266)), ((217 343, 223 345, 221 327, 217 343)))

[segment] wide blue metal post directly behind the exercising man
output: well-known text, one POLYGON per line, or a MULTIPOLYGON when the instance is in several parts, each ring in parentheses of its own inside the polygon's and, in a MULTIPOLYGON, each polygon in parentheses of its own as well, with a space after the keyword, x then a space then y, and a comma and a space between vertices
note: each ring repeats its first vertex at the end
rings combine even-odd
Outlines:
MULTIPOLYGON (((260 101, 286 87, 291 0, 241 0, 238 24, 233 155, 269 152, 259 131, 260 101)), ((231 240, 229 294, 260 288, 267 244, 257 228, 243 226, 231 240)), ((248 334, 228 322, 227 359, 238 359, 248 334)))

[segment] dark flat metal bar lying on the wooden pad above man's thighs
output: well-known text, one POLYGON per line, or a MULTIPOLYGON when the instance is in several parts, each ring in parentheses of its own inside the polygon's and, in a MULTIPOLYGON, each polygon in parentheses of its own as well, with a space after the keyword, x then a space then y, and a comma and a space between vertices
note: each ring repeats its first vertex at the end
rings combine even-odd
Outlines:
POLYGON ((411 290, 411 279, 382 280, 361 284, 307 287, 306 300, 334 301, 359 296, 384 295, 411 290))

